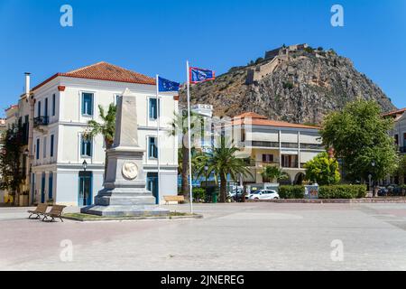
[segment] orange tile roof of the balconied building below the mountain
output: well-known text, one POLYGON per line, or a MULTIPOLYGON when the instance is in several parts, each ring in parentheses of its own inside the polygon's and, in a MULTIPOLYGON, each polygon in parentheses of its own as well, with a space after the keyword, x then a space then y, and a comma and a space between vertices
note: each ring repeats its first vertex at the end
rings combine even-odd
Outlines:
POLYGON ((233 125, 244 125, 249 124, 252 126, 278 126, 278 127, 293 127, 293 128, 311 128, 319 129, 319 126, 306 126, 301 124, 291 124, 285 121, 271 120, 267 117, 258 115, 254 112, 244 113, 242 115, 236 116, 232 121, 233 125), (245 118, 251 118, 251 121, 246 121, 245 118))

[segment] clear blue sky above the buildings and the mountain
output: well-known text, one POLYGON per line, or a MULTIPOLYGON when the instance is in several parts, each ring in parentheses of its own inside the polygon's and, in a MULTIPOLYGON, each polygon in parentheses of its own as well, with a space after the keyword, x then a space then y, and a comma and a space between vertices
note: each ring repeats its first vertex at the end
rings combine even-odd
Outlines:
POLYGON ((56 72, 107 61, 184 81, 185 61, 217 74, 282 43, 333 48, 406 107, 405 0, 130 1, 0 0, 0 116, 23 92, 56 72), (60 6, 73 27, 60 26, 60 6), (330 8, 344 7, 332 27, 330 8))

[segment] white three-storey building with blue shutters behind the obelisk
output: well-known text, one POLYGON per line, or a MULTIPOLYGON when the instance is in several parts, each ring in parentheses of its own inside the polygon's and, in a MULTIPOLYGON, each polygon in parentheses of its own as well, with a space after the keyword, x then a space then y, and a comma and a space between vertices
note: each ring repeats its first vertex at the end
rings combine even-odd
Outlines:
MULTIPOLYGON (((178 142, 171 136, 170 122, 178 111, 176 92, 161 94, 160 149, 157 150, 157 100, 155 79, 115 65, 96 64, 57 73, 30 90, 33 98, 32 166, 30 202, 53 201, 66 205, 89 205, 102 189, 105 144, 102 135, 83 137, 89 120, 101 121, 98 106, 116 102, 125 89, 137 99, 139 143, 147 188, 162 201, 177 194, 178 142), (158 195, 158 161, 161 190, 158 195), (83 169, 86 161, 88 167, 83 169)), ((134 112, 135 113, 135 112, 134 112)))

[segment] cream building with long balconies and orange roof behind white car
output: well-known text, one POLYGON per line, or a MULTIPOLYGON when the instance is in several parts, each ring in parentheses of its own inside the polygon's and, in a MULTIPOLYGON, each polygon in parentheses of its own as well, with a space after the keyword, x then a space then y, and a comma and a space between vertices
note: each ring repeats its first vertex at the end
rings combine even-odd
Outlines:
POLYGON ((318 127, 274 121, 248 112, 232 120, 235 144, 243 150, 240 157, 250 157, 252 177, 244 182, 262 183, 261 172, 267 165, 281 167, 289 175, 281 183, 299 184, 303 181, 304 164, 324 152, 318 127))

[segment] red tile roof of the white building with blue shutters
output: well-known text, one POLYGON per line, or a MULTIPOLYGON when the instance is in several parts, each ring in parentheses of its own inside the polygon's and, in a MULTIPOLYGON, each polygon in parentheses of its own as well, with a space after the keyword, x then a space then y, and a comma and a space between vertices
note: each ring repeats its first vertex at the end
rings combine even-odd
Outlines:
POLYGON ((50 82, 52 79, 55 79, 59 76, 77 79, 97 79, 97 80, 155 85, 155 79, 153 78, 102 61, 86 67, 82 67, 78 70, 56 73, 53 76, 51 76, 51 78, 46 79, 36 87, 32 88, 32 91, 41 88, 44 84, 50 82))

